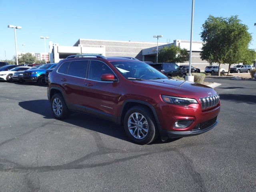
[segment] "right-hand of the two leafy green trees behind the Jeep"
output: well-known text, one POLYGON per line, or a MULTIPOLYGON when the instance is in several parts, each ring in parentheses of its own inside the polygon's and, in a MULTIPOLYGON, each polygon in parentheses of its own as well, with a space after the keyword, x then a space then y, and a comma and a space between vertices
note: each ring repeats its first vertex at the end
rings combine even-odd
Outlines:
POLYGON ((228 64, 229 74, 232 64, 248 62, 248 60, 251 60, 252 64, 253 52, 250 52, 248 49, 252 41, 252 36, 248 32, 248 26, 242 24, 238 16, 231 16, 230 18, 226 18, 226 20, 226 41, 224 45, 226 47, 226 56, 224 62, 228 64))

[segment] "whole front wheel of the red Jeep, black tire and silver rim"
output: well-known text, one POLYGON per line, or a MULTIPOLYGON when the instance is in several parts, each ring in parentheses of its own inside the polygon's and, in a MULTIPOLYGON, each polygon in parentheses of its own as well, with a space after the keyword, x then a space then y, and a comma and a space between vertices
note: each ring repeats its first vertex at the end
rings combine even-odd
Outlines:
POLYGON ((124 130, 130 140, 140 145, 149 144, 158 137, 158 129, 155 118, 151 111, 144 106, 134 106, 126 112, 124 116, 124 130), (135 121, 137 120, 136 113, 138 114, 138 121, 135 121), (134 118, 132 118, 132 116, 134 118), (142 116, 144 116, 144 118, 142 118, 142 116), (140 120, 142 121, 140 122, 140 120), (140 125, 140 123, 144 125, 140 125), (133 125, 134 128, 129 129, 129 127, 132 127, 133 125), (145 130, 147 130, 147 132, 145 130), (134 136, 132 134, 134 134, 134 136))

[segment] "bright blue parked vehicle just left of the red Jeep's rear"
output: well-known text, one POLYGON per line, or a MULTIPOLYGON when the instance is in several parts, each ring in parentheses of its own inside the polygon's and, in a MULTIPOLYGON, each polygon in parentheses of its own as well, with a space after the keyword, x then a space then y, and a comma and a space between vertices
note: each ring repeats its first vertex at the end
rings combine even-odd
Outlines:
POLYGON ((37 82, 39 85, 45 85, 45 74, 46 70, 53 69, 56 67, 55 63, 44 64, 37 69, 34 70, 26 70, 24 71, 23 79, 26 82, 37 82))

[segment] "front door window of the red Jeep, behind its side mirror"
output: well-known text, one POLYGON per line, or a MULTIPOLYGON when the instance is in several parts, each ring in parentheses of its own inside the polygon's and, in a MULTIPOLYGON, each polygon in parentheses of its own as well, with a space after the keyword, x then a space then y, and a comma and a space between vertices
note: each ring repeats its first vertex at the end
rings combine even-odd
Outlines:
POLYGON ((89 69, 89 79, 101 81, 102 74, 113 74, 112 70, 105 63, 91 60, 90 69, 89 69))

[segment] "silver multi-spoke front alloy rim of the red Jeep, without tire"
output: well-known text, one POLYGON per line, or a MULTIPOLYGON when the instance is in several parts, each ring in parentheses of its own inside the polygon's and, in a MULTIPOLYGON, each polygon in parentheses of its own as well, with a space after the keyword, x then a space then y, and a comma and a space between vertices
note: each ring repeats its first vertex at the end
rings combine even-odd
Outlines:
POLYGON ((128 129, 134 138, 143 139, 148 134, 148 121, 142 114, 132 113, 128 118, 128 129))

